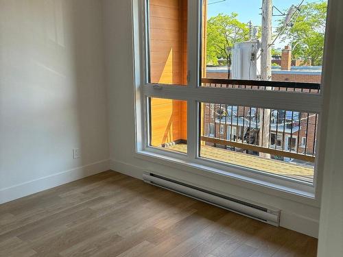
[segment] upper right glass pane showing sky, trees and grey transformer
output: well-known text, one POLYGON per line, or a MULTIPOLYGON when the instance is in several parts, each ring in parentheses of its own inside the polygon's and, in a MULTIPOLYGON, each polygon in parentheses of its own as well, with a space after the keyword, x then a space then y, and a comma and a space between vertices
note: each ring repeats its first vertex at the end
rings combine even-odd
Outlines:
POLYGON ((202 86, 318 93, 327 1, 274 0, 267 5, 247 0, 242 5, 204 0, 202 10, 202 86), (252 88, 220 79, 307 86, 275 83, 252 88))

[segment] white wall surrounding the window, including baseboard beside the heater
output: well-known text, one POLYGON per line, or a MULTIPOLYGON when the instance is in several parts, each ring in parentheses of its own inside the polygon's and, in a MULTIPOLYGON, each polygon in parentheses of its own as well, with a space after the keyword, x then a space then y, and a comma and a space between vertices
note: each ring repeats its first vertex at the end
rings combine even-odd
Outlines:
POLYGON ((130 2, 104 0, 111 169, 136 178, 142 178, 143 171, 150 170, 227 195, 274 206, 282 210, 283 227, 318 236, 318 202, 304 204, 301 201, 291 201, 287 199, 287 194, 263 193, 262 188, 255 191, 251 189, 255 188, 251 185, 244 187, 233 181, 228 184, 206 175, 195 175, 196 171, 193 169, 182 170, 177 164, 157 164, 134 155, 134 67, 130 2))

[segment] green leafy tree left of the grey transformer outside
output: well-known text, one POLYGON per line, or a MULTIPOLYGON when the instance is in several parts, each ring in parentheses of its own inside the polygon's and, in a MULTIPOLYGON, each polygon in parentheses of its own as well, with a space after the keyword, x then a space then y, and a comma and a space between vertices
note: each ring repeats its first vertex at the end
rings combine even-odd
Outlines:
POLYGON ((218 14, 207 21, 207 62, 218 64, 224 58, 229 64, 230 49, 236 42, 249 39, 249 27, 237 20, 238 14, 218 14))

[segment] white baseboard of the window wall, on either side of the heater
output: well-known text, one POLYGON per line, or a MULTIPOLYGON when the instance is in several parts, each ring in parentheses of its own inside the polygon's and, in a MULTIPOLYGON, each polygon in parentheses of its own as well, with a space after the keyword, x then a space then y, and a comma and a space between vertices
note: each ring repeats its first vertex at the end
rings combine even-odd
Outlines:
MULTIPOLYGON (((126 162, 110 160, 110 169, 139 180, 143 179, 144 170, 126 162)), ((280 225, 283 228, 318 238, 318 220, 298 215, 294 212, 287 212, 287 210, 281 210, 280 225)))

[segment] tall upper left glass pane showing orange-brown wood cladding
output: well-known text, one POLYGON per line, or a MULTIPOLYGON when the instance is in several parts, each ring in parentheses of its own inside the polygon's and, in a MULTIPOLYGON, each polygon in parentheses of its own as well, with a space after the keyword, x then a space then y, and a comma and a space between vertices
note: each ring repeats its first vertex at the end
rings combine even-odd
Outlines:
POLYGON ((187 0, 150 0, 150 83, 187 85, 187 0))

